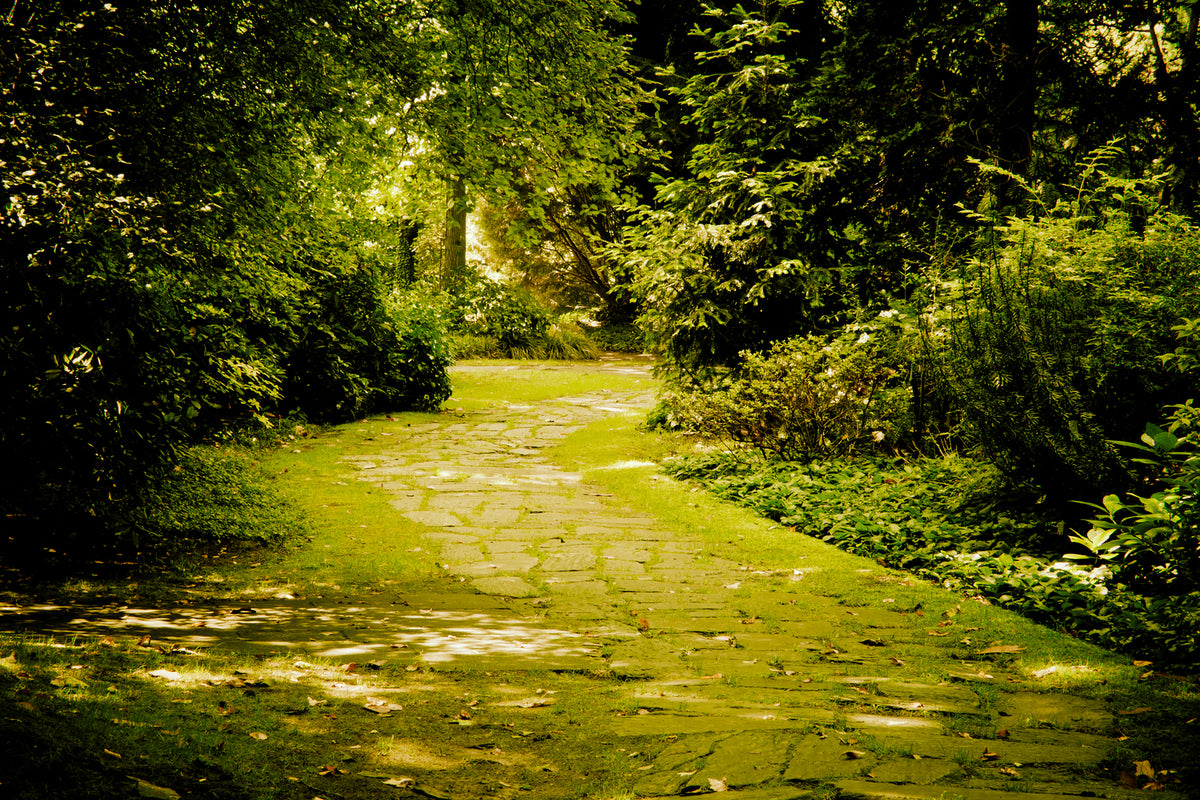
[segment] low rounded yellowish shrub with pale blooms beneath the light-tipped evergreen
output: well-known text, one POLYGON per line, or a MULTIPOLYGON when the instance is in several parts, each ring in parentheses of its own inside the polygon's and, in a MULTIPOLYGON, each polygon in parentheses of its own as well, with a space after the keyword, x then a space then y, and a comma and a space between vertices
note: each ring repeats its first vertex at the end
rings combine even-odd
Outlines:
POLYGON ((743 353, 726 386, 691 391, 677 408, 707 435, 784 459, 846 455, 895 443, 908 389, 877 357, 871 336, 809 336, 743 353))

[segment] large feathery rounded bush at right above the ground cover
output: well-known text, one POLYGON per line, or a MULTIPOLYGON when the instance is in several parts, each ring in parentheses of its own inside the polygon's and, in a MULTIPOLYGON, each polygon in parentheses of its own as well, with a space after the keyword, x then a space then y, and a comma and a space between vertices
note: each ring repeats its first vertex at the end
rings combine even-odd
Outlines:
POLYGON ((950 326, 949 385, 984 451, 1066 498, 1129 486, 1111 440, 1189 393, 1158 355, 1200 312, 1200 229, 1106 174, 1115 152, 1043 216, 991 231, 950 326))

